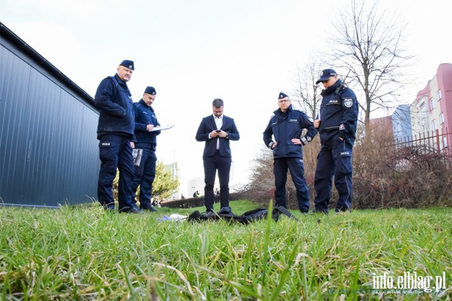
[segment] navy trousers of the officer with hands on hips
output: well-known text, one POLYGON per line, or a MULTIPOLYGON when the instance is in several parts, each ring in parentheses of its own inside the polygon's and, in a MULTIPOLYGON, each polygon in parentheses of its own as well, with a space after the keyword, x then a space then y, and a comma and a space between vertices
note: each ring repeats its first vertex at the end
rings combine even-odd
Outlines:
POLYGON ((309 211, 309 189, 304 179, 304 165, 301 158, 283 157, 274 160, 275 206, 279 205, 286 208, 287 169, 290 171, 293 184, 297 190, 298 208, 301 213, 307 213, 309 211))

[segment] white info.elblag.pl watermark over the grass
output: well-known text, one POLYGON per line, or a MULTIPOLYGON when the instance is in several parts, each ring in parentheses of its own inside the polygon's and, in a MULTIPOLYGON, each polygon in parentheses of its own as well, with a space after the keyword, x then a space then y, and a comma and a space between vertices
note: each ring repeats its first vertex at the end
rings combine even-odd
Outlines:
POLYGON ((404 272, 398 277, 390 276, 388 272, 383 275, 372 274, 373 293, 422 293, 440 291, 446 288, 446 275, 421 276, 416 272, 404 272), (414 290, 414 291, 413 291, 414 290))

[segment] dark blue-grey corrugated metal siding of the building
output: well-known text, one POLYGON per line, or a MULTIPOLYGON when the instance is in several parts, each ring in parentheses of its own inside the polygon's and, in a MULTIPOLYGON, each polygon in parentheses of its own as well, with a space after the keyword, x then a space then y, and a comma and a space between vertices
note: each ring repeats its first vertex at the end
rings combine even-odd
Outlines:
POLYGON ((0 197, 46 205, 97 198, 98 113, 0 46, 0 197))

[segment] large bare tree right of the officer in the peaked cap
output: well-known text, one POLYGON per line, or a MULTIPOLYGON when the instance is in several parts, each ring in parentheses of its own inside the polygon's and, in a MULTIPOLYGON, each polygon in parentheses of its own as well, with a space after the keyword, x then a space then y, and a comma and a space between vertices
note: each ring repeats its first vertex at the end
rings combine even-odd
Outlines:
POLYGON ((371 112, 394 105, 399 90, 409 83, 406 68, 413 56, 403 47, 405 25, 395 14, 380 11, 377 3, 370 6, 351 0, 351 8, 333 26, 336 32, 328 42, 336 50, 328 55, 335 68, 350 70, 349 86, 363 90, 365 100, 360 107, 368 130, 371 112))

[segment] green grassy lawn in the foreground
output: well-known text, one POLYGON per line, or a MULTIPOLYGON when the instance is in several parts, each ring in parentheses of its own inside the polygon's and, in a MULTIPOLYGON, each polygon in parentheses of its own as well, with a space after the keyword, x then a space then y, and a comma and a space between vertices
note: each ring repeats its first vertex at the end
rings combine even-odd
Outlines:
MULTIPOLYGON (((259 207, 231 205, 236 214, 259 207)), ((292 211, 300 221, 246 226, 156 220, 194 210, 203 208, 130 215, 2 206, 0 299, 452 298, 451 208, 292 211), (377 276, 400 285, 407 272, 424 279, 420 289, 405 280, 403 294, 374 287, 377 276)))

